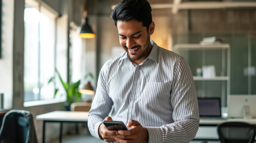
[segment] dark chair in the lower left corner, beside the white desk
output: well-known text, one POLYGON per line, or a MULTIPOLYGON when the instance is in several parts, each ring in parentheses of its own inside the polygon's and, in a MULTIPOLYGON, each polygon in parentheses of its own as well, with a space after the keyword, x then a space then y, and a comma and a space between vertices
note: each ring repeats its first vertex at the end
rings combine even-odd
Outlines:
POLYGON ((29 111, 10 110, 2 121, 1 143, 37 143, 33 116, 29 111))

